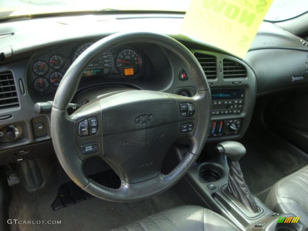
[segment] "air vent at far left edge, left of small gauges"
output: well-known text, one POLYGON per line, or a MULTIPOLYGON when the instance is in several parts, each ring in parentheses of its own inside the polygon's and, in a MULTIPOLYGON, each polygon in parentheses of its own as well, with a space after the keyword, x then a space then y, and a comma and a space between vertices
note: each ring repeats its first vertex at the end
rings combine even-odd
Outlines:
POLYGON ((0 73, 0 109, 17 107, 18 97, 12 72, 0 73))

